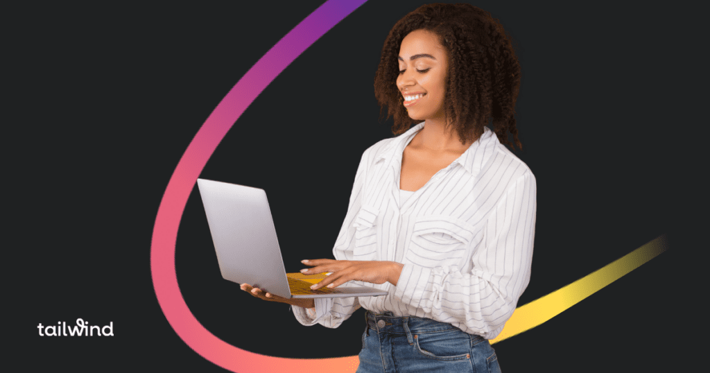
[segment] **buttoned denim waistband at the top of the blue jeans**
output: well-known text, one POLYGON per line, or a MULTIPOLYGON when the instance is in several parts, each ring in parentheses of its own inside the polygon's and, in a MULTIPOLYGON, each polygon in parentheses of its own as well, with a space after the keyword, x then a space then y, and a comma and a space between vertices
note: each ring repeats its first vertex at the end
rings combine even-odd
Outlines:
MULTIPOLYGON (((425 334, 425 333, 439 333, 449 330, 458 330, 461 333, 465 333, 463 330, 451 325, 449 323, 442 323, 441 321, 435 321, 430 318, 419 318, 416 316, 395 316, 390 311, 385 313, 373 313, 372 311, 366 311, 365 320, 368 329, 376 330, 377 333, 391 333, 391 334, 425 334)), ((480 335, 471 335, 473 339, 481 338, 480 335)))

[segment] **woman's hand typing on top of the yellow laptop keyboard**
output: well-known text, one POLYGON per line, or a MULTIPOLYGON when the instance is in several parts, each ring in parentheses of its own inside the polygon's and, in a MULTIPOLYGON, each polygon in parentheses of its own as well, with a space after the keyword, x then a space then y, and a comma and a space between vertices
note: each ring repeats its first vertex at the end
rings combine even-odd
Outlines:
POLYGON ((387 281, 397 286, 397 281, 402 273, 402 264, 394 261, 314 259, 304 260, 301 263, 312 266, 310 269, 302 269, 302 274, 332 272, 323 281, 311 286, 313 290, 323 286, 334 288, 352 280, 369 283, 385 283, 387 281))

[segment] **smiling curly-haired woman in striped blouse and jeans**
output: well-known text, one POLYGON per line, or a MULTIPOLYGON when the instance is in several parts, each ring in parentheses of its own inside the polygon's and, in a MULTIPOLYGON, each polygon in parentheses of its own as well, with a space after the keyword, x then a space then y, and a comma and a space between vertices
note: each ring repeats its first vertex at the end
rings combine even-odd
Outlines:
POLYGON ((295 306, 303 325, 337 328, 366 308, 358 372, 498 371, 488 340, 528 285, 535 232, 535 177, 501 144, 513 146, 511 134, 521 147, 519 85, 510 40, 488 12, 432 4, 398 21, 375 93, 400 136, 363 154, 337 260, 302 270, 332 272, 313 288, 355 281, 389 294, 313 301, 241 288, 295 306))

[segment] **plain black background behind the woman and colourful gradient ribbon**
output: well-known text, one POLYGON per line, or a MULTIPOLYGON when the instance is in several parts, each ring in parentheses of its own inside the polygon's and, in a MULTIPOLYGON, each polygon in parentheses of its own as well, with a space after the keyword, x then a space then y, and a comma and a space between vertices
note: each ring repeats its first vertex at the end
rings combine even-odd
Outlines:
MULTIPOLYGON (((28 371, 222 368, 170 328, 153 291, 151 234, 165 186, 205 119, 322 1, 10 9, 5 184, 6 350, 28 371), (9 271, 7 271, 9 270, 9 271), (37 325, 114 323, 114 337, 37 325), (18 323, 17 320, 20 322, 18 323)), ((516 151, 537 179, 532 278, 520 305, 667 234, 669 249, 549 322, 494 347, 504 372, 677 371, 694 330, 680 279, 692 247, 677 178, 699 121, 697 13, 634 3, 480 1, 515 39, 516 151), (692 137, 692 136, 691 136, 692 137)), ((331 257, 361 153, 391 136, 372 82, 389 29, 420 1, 368 1, 300 55, 236 121, 201 177, 268 193, 288 271, 331 257)), ((643 4, 643 3, 642 3, 643 4)), ((698 169, 695 170, 699 171, 698 169)), ((302 327, 219 274, 197 188, 175 254, 197 320, 280 357, 356 355, 362 311, 302 327), (289 342, 288 340, 291 342, 289 342), (296 343, 293 343, 293 341, 296 343)))

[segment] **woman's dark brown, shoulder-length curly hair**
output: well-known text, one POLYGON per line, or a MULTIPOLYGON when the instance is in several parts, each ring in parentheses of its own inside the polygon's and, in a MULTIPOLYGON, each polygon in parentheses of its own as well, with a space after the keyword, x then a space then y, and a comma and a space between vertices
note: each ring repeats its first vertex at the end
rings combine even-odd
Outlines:
POLYGON ((402 40, 415 30, 426 30, 439 37, 447 50, 444 118, 457 131, 461 143, 475 141, 484 126, 511 148, 508 133, 518 148, 523 148, 515 127, 515 99, 520 90, 520 64, 510 36, 491 13, 470 4, 428 4, 400 19, 390 31, 382 48, 375 75, 375 97, 381 115, 394 118, 393 134, 403 134, 415 123, 403 106, 396 85, 398 55, 402 40), (387 108, 387 109, 386 109, 387 108))

